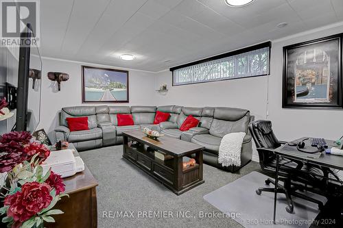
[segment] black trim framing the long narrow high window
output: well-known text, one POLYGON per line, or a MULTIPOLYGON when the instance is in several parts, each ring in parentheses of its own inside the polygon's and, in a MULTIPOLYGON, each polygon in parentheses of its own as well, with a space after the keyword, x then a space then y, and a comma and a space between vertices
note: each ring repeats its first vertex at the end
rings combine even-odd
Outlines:
POLYGON ((217 79, 217 80, 211 80, 211 81, 198 81, 198 82, 191 82, 191 83, 187 83, 187 84, 175 84, 174 83, 174 75, 171 74, 172 86, 186 86, 186 85, 191 85, 191 84, 200 84, 200 83, 207 83, 207 82, 213 82, 213 81, 226 81, 226 80, 243 79, 243 78, 248 78, 248 77, 260 77, 260 76, 270 75, 270 53, 271 53, 271 49, 272 49, 272 42, 271 41, 263 42, 263 43, 260 43, 258 45, 253 45, 253 46, 250 46, 250 47, 244 47, 242 49, 237 49, 235 51, 229 51, 227 53, 223 53, 223 54, 220 54, 220 55, 215 55, 215 56, 212 56, 212 57, 209 57, 209 58, 205 58, 205 59, 202 59, 202 60, 197 60, 197 61, 194 61, 194 62, 189 62, 187 64, 182 64, 182 65, 179 65, 179 66, 174 66, 174 67, 169 68, 169 71, 173 72, 173 71, 178 70, 180 68, 194 66, 194 65, 197 65, 197 64, 203 64, 205 62, 211 62, 213 60, 220 60, 222 58, 227 58, 227 57, 230 57, 230 56, 233 56, 233 55, 239 55, 239 54, 247 53, 249 51, 255 51, 255 50, 258 50, 258 49, 263 49, 265 47, 269 47, 268 74, 253 75, 253 76, 247 76, 247 77, 224 78, 224 79, 217 79))

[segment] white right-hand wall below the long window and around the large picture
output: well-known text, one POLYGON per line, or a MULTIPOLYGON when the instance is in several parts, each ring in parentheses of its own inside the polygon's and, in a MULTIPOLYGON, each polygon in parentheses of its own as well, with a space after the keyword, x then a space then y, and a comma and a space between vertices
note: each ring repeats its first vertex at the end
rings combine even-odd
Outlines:
MULTIPOLYGON (((171 72, 156 75, 156 86, 167 84, 169 92, 158 97, 158 104, 194 107, 228 106, 250 110, 255 119, 270 119, 280 140, 302 136, 338 139, 343 135, 343 110, 305 110, 282 108, 283 47, 343 32, 343 25, 303 32, 272 41, 270 76, 171 86, 171 72), (269 78, 269 86, 268 86, 269 78), (269 116, 267 116, 267 92, 269 116)), ((257 160, 256 151, 254 158, 257 160)))

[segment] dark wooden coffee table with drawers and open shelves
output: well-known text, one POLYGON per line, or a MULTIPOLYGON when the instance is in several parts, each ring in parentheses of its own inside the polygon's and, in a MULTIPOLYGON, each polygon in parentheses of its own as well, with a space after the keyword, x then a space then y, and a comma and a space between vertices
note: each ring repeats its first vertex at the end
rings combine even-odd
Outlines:
POLYGON ((203 149, 204 147, 197 144, 167 136, 153 140, 141 130, 123 132, 123 157, 161 181, 177 195, 204 183, 203 149), (173 158, 160 160, 154 156, 154 151, 162 151, 173 158), (196 165, 182 168, 182 157, 193 157, 196 165))

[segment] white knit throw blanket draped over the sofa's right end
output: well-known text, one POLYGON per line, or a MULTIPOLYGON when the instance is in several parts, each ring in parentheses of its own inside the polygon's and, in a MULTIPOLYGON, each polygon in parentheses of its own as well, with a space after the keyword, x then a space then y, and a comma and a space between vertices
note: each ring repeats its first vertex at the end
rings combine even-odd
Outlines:
POLYGON ((241 166, 241 144, 245 132, 226 134, 219 147, 218 163, 222 166, 241 166))

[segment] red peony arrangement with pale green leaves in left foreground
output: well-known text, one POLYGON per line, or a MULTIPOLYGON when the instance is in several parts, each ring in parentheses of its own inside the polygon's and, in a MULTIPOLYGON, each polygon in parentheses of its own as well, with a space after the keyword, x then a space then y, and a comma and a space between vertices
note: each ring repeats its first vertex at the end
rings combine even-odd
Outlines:
MULTIPOLYGON (((3 100, 1 100, 3 103, 3 100)), ((43 175, 40 163, 50 155, 49 149, 39 142, 31 142, 32 136, 26 131, 14 131, 0 136, 0 173, 7 172, 10 188, 5 188, 4 205, 0 215, 8 227, 29 228, 54 221, 53 214, 61 210, 51 210, 66 194, 60 175, 48 171, 43 175)), ((2 227, 2 226, 1 226, 2 227)))

